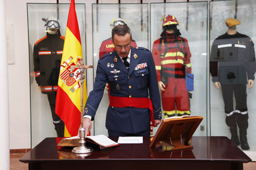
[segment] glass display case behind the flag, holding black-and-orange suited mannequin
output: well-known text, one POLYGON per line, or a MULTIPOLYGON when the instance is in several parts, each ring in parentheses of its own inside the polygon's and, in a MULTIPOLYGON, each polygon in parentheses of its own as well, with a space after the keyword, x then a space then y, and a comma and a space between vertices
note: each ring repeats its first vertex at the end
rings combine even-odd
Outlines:
MULTIPOLYGON (((83 57, 84 61, 86 61, 85 4, 76 4, 75 7, 83 57)), ((58 68, 66 34, 68 12, 69 4, 27 4, 31 148, 34 148, 46 137, 57 137, 59 119, 56 118, 54 112, 55 92, 57 90, 55 87, 57 87, 58 83, 54 83, 55 79, 50 77, 55 74, 59 77, 58 68), (59 28, 59 31, 56 28, 59 28), (51 37, 51 40, 49 40, 49 37, 51 37), (45 57, 38 57, 40 55, 45 55, 45 57)), ((58 78, 56 80, 58 82, 58 78)))

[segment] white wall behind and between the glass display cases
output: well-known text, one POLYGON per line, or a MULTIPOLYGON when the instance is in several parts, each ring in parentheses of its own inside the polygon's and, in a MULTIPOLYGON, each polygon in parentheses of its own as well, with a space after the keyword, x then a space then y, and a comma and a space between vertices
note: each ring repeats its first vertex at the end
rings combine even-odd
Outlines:
MULTIPOLYGON (((30 148, 30 87, 29 87, 29 47, 27 28, 27 3, 56 3, 55 0, 5 0, 6 23, 13 24, 14 30, 14 64, 8 65, 9 77, 9 113, 10 113, 10 149, 30 148)), ((144 0, 143 3, 163 2, 161 0, 144 0)), ((186 0, 169 0, 166 2, 187 2, 186 0)), ((193 2, 193 1, 190 1, 193 2)), ((60 0, 59 3, 70 3, 60 0)), ((92 65, 92 3, 96 0, 76 0, 75 3, 86 4, 86 54, 87 64, 92 65)), ((118 3, 117 0, 100 0, 99 3, 118 3)), ((140 3, 139 0, 123 0, 121 3, 140 3)), ((150 5, 149 5, 150 8, 150 5)), ((150 19, 149 19, 150 20, 150 19)), ((87 71, 87 79, 92 80, 93 71, 87 71)), ((3 82, 2 82, 3 83, 3 82)), ((87 82, 91 91, 92 82, 87 82)))

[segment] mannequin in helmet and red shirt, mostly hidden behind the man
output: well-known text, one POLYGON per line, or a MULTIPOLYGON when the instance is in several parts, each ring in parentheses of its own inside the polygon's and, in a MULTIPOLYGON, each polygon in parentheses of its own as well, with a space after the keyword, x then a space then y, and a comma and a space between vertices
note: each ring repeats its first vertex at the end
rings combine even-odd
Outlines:
MULTIPOLYGON (((111 26, 115 27, 116 25, 127 25, 124 20, 119 18, 118 20, 114 21, 115 18, 113 18, 112 22, 110 23, 111 26)), ((135 40, 132 39, 132 47, 136 48, 137 44, 135 40)), ((108 38, 104 41, 102 41, 100 45, 100 52, 99 52, 99 59, 107 53, 113 52, 115 50, 115 46, 113 44, 113 41, 111 38, 108 38)))

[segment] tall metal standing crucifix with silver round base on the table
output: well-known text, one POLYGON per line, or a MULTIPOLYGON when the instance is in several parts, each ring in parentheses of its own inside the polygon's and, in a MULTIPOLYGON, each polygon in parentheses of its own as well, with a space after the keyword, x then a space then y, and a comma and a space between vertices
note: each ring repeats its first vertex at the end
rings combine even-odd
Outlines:
POLYGON ((84 121, 83 121, 83 113, 84 113, 84 95, 83 95, 83 91, 84 91, 84 79, 85 79, 85 75, 84 75, 84 71, 88 68, 93 68, 92 65, 83 65, 83 58, 81 58, 81 63, 79 65, 71 65, 71 68, 74 69, 79 69, 80 70, 80 83, 81 83, 81 126, 79 128, 79 137, 80 137, 80 141, 79 141, 79 147, 75 147, 72 152, 74 154, 77 154, 78 156, 88 156, 90 155, 90 152, 93 151, 93 149, 91 147, 86 147, 85 143, 86 141, 85 139, 85 131, 86 129, 84 128, 84 121))

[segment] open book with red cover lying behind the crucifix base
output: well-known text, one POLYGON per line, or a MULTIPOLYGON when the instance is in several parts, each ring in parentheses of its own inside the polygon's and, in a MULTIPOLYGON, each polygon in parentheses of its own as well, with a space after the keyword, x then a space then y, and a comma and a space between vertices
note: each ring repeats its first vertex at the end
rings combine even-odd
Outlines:
MULTIPOLYGON (((76 146, 79 146, 80 140, 81 139, 79 137, 61 139, 60 143, 58 144, 58 147, 76 147, 76 146)), ((87 136, 85 140, 88 142, 92 142, 97 145, 100 145, 102 147, 119 146, 118 143, 114 142, 113 140, 109 139, 103 134, 95 135, 95 136, 87 136)))

